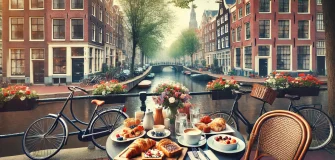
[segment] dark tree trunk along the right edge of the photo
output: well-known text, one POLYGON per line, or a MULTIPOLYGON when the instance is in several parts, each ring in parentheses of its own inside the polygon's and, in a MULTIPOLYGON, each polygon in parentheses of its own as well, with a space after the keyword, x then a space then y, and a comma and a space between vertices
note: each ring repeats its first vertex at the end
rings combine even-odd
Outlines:
POLYGON ((326 34, 326 66, 327 66, 327 88, 328 88, 328 114, 335 120, 335 15, 333 7, 334 0, 322 0, 323 17, 326 34))

